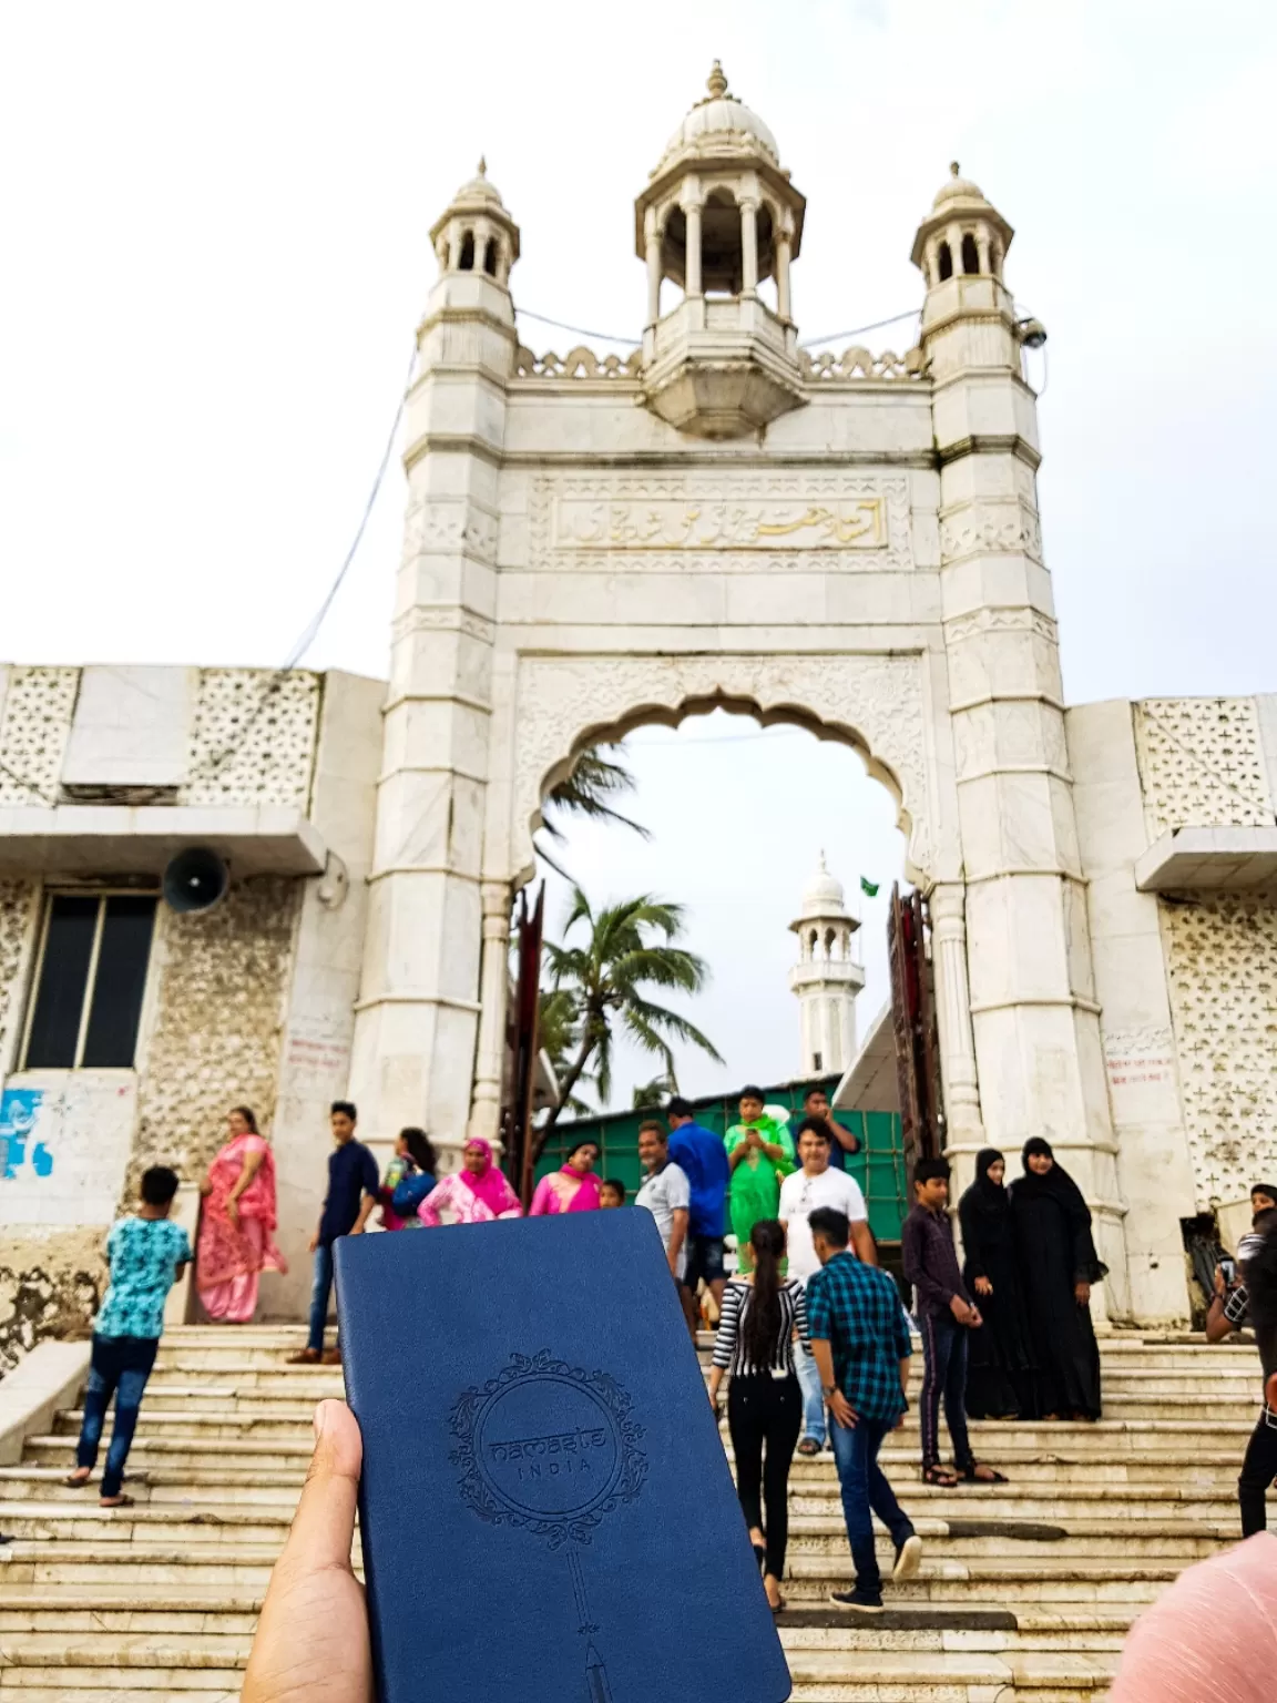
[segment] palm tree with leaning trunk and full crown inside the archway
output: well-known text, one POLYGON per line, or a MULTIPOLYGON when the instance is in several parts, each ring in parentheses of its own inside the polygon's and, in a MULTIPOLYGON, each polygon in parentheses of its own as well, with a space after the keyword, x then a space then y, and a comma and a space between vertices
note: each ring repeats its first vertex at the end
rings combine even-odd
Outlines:
POLYGON ((621 899, 598 915, 589 899, 574 889, 572 908, 564 925, 564 945, 547 940, 545 957, 553 976, 553 993, 569 993, 576 1001, 572 1024, 574 1054, 558 1080, 560 1104, 538 1131, 538 1155, 545 1148, 558 1114, 589 1069, 603 1102, 611 1093, 613 1032, 635 1041, 674 1075, 673 1041, 684 1041, 722 1063, 717 1047, 679 1012, 654 1005, 647 988, 674 988, 700 993, 708 979, 705 960, 674 945, 683 933, 683 906, 664 904, 650 894, 621 899), (570 940, 577 925, 587 937, 570 940))

